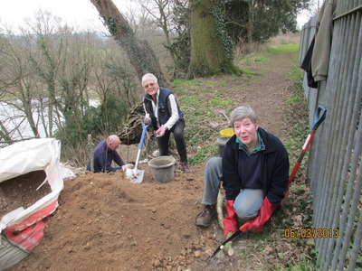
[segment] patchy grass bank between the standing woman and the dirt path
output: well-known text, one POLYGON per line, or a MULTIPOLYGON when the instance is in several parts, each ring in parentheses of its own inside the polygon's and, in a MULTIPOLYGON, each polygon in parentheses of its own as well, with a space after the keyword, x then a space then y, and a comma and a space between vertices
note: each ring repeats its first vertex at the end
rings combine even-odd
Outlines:
POLYGON ((175 80, 174 92, 187 117, 185 140, 190 164, 202 164, 218 154, 216 139, 219 131, 229 126, 212 128, 211 123, 225 123, 225 117, 217 110, 229 114, 242 100, 228 98, 223 89, 228 89, 234 77, 175 80))

